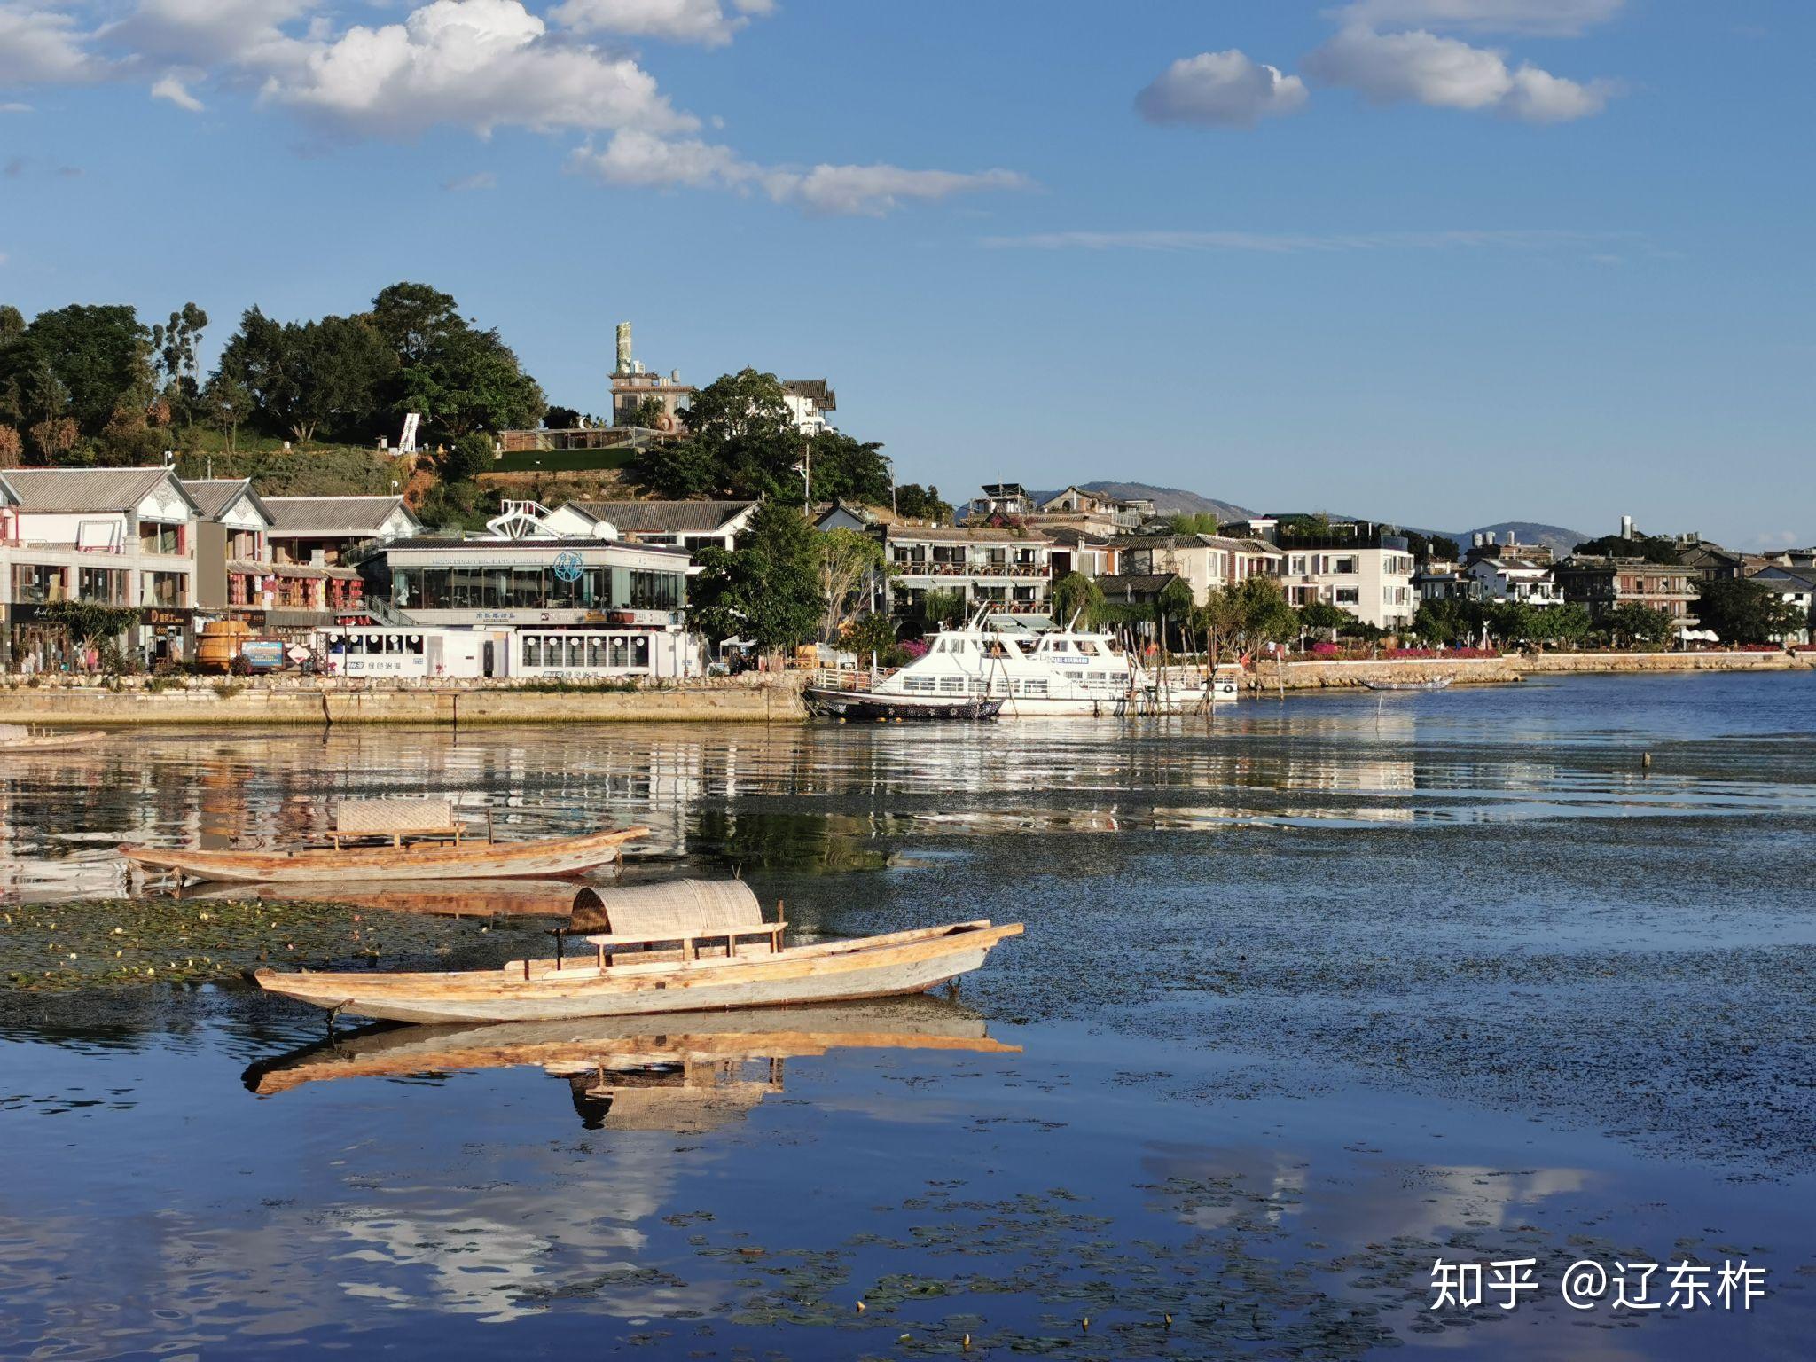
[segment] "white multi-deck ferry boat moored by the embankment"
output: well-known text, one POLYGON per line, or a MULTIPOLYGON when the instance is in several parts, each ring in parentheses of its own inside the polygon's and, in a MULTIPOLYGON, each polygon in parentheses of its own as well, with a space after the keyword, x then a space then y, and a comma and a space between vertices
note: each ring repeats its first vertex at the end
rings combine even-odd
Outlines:
MULTIPOLYGON (((808 703, 837 712, 815 703, 832 694, 830 686, 815 686, 808 703)), ((1206 701, 1235 699, 1237 681, 1219 674, 1206 686, 1202 672, 1159 676, 1119 637, 1081 630, 1077 619, 1061 627, 1046 616, 986 616, 981 610, 962 628, 932 634, 923 657, 879 677, 863 694, 872 705, 895 697, 904 706, 993 699, 1002 717, 1186 714, 1206 701)))

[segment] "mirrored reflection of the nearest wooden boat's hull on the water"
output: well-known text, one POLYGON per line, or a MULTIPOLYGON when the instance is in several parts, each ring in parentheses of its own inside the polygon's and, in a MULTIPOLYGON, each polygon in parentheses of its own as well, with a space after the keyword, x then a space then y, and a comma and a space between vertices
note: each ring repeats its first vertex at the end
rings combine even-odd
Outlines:
POLYGON ((323 1079, 400 1079, 528 1066, 568 1077, 588 1070, 697 1061, 795 1059, 828 1050, 952 1050, 1017 1055, 984 1021, 933 997, 832 1002, 755 1012, 688 1012, 661 1019, 581 1017, 478 1026, 378 1026, 252 1064, 245 1086, 260 1097, 323 1079))

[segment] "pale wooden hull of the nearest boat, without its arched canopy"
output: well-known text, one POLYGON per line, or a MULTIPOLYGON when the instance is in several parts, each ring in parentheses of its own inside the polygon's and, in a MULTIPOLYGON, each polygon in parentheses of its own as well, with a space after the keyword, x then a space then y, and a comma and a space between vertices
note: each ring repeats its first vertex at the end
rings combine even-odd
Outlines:
POLYGON ((568 957, 450 973, 260 970, 252 979, 272 993, 381 1021, 654 1017, 924 993, 979 968, 992 946, 1021 932, 1021 923, 977 921, 714 959, 650 952, 605 966, 568 957))

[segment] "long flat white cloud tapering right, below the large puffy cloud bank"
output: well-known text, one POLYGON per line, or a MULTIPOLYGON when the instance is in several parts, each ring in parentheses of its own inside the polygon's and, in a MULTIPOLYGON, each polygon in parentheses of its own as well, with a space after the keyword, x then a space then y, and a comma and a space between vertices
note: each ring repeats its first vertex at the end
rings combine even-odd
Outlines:
POLYGON ((697 138, 616 133, 603 151, 583 147, 570 169, 610 185, 763 192, 812 214, 881 218, 904 202, 933 202, 986 189, 1024 189, 1013 171, 908 171, 899 165, 755 165, 697 138))

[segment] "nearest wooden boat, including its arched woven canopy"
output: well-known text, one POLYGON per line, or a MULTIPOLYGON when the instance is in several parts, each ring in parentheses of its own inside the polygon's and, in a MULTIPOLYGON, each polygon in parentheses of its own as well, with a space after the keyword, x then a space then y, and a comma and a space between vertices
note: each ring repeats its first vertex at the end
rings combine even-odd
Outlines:
POLYGON ((252 979, 271 993, 381 1021, 641 1017, 924 993, 979 968, 992 946, 1022 930, 1021 923, 977 921, 783 946, 788 924, 765 923, 741 881, 599 890, 597 897, 610 930, 585 937, 590 959, 558 953, 441 973, 260 970, 252 979))

